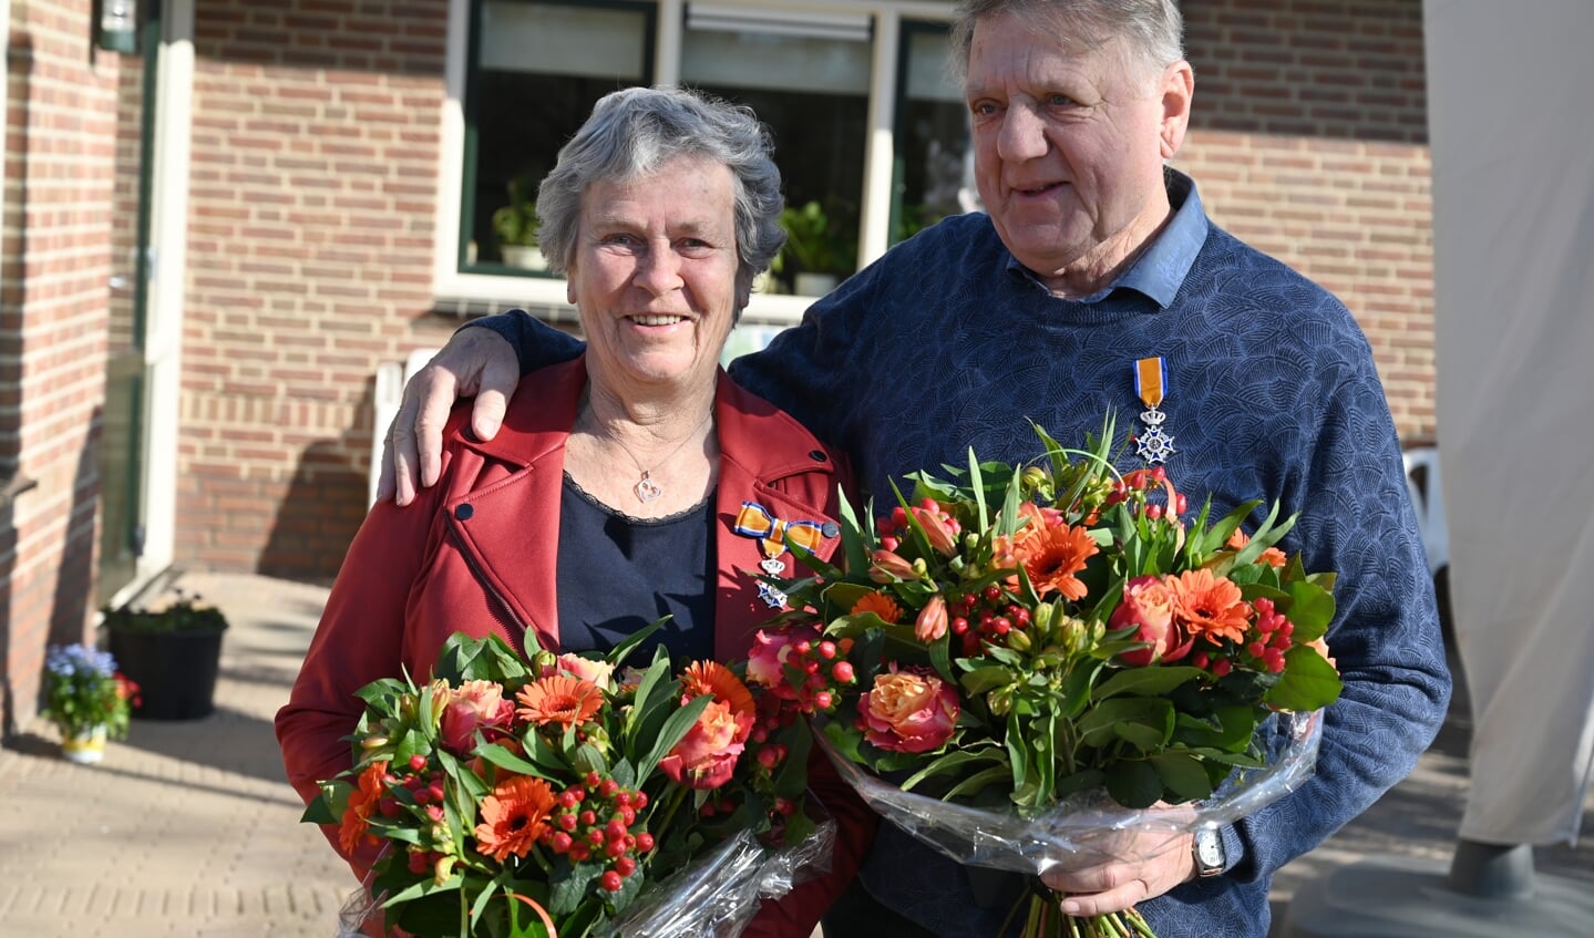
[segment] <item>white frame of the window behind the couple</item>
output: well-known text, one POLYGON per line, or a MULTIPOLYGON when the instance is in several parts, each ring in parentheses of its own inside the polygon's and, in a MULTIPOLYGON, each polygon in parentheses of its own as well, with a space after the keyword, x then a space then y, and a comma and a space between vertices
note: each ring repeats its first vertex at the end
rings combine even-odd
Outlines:
MULTIPOLYGON (((654 80, 677 84, 681 80, 681 41, 685 6, 690 0, 658 0, 658 30, 654 49, 654 80)), ((859 217, 859 266, 889 245, 891 223, 891 159, 896 121, 897 53, 902 19, 948 21, 952 0, 872 0, 872 2, 800 2, 800 0, 716 0, 716 6, 738 6, 795 14, 834 14, 854 18, 869 14, 874 22, 874 62, 869 86, 869 134, 864 145, 864 190, 859 217)), ((440 132, 437 178, 437 228, 434 231, 432 291, 440 307, 510 309, 523 306, 550 322, 577 322, 575 307, 566 299, 566 282, 547 277, 513 277, 502 274, 465 274, 459 271, 459 193, 464 180, 465 151, 465 67, 470 30, 470 0, 450 0, 448 62, 445 65, 445 100, 440 132)), ((813 296, 754 293, 743 322, 794 325, 813 303, 813 296)))

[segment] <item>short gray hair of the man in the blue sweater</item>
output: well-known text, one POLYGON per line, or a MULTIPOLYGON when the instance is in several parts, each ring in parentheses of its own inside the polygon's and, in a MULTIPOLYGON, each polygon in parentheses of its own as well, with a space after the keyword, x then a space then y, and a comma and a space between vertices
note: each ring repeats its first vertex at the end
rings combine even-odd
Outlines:
POLYGON ((1122 38, 1130 61, 1149 80, 1184 57, 1184 18, 1175 0, 961 0, 952 21, 952 72, 968 80, 974 27, 1006 13, 1050 25, 1074 51, 1093 51, 1122 38))

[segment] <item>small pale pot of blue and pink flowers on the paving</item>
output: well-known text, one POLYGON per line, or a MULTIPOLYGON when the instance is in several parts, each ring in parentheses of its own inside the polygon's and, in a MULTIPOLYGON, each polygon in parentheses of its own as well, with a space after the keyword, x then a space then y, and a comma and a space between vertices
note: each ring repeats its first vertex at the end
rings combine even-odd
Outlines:
POLYGON ((139 685, 116 670, 116 658, 88 645, 51 645, 45 653, 43 715, 61 731, 61 752, 75 763, 105 758, 107 739, 128 737, 128 712, 139 685))

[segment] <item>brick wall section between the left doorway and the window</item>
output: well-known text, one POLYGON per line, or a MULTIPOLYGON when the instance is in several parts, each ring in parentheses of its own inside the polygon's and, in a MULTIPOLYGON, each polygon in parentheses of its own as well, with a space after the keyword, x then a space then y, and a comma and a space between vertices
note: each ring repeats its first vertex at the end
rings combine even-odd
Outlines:
POLYGON ((446 0, 202 3, 177 554, 328 578, 430 320, 446 0))

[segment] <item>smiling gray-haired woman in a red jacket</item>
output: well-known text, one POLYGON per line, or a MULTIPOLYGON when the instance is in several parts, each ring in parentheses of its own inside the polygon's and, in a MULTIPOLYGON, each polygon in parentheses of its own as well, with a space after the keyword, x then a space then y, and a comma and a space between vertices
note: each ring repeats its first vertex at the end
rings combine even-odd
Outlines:
MULTIPOLYGON (((559 151, 537 212, 587 354, 526 376, 491 443, 456 409, 419 510, 379 503, 360 527, 276 718, 306 801, 351 764, 354 691, 427 674, 454 631, 609 650, 669 613, 655 639, 673 656, 744 658, 771 615, 748 572, 795 561, 738 533, 743 503, 815 522, 818 556, 837 546, 843 460, 719 368, 784 237, 757 119, 685 91, 609 94, 559 151)), ((807 938, 872 836, 867 807, 824 760, 811 766, 840 827, 830 873, 767 903, 749 935, 807 938)))

